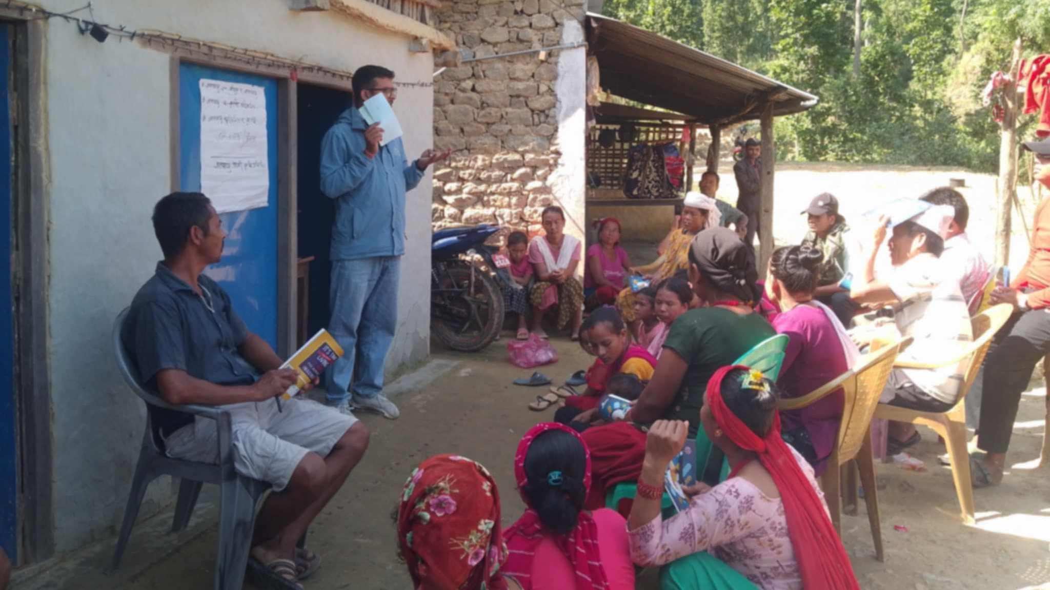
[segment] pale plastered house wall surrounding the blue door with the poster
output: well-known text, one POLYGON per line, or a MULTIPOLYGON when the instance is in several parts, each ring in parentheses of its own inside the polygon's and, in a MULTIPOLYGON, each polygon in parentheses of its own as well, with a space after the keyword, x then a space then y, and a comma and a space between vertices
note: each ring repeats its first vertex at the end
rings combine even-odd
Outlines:
MULTIPOLYGON (((40 3, 56 12, 82 4, 40 3)), ((291 12, 287 0, 93 0, 91 6, 99 21, 129 29, 161 29, 342 70, 376 62, 404 82, 429 82, 433 71, 432 56, 410 54, 406 37, 333 13, 291 12)), ((113 37, 98 43, 60 19, 48 21, 46 38, 54 512, 61 552, 111 533, 134 470, 144 408, 121 383, 109 338, 113 318, 161 257, 149 217, 171 186, 168 109, 177 90, 170 87, 167 54, 113 37)), ((429 147, 432 104, 432 88, 401 88, 395 110, 410 156, 429 147)), ((428 351, 430 184, 424 178, 408 195, 391 367, 428 351)), ((153 506, 169 494, 169 486, 154 485, 153 506)))

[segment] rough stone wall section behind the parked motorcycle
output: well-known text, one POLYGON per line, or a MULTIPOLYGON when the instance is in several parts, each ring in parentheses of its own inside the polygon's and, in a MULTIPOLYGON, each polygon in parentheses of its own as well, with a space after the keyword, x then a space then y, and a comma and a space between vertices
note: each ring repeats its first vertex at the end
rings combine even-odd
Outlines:
MULTIPOLYGON (((566 21, 582 22, 584 0, 455 0, 438 28, 470 60, 563 43, 566 21)), ((559 205, 555 82, 560 50, 461 63, 435 79, 434 144, 455 150, 434 172, 435 229, 500 224, 540 231, 540 212, 559 205)), ((582 188, 582 185, 581 185, 582 188)))

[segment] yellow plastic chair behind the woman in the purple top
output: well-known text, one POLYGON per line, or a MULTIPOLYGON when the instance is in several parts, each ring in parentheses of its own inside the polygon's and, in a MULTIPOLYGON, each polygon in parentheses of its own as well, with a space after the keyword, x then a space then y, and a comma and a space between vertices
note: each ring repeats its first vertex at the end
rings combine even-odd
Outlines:
MULTIPOLYGON (((872 525, 875 555, 880 562, 882 553, 882 529, 879 526, 879 499, 875 486, 875 459, 872 456, 872 416, 879 403, 879 396, 886 386, 889 373, 894 368, 897 354, 911 341, 911 338, 894 339, 885 342, 860 358, 857 366, 819 389, 800 398, 781 399, 777 407, 783 410, 801 409, 820 401, 842 388, 845 400, 842 406, 842 422, 839 424, 838 444, 827 458, 827 468, 821 476, 820 487, 832 513, 835 530, 840 531, 841 467, 849 461, 857 461, 860 479, 864 485, 864 502, 867 504, 867 520, 872 525)), ((856 486, 854 486, 856 493, 856 486)))

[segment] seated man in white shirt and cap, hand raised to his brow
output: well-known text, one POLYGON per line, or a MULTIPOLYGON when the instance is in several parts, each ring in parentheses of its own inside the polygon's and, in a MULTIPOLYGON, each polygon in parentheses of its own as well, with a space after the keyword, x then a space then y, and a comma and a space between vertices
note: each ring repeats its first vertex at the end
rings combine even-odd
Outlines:
MULTIPOLYGON (((951 358, 973 338, 969 312, 960 290, 959 269, 940 259, 954 210, 923 204, 918 214, 903 219, 881 219, 868 253, 864 276, 854 279, 850 296, 860 303, 894 307, 894 322, 902 336, 915 340, 900 358, 938 364, 951 358), (894 272, 885 280, 875 277, 878 249, 892 227, 889 255, 894 272)), ((959 398, 967 361, 937 370, 895 368, 882 402, 924 412, 946 412, 959 398)), ((891 422, 891 454, 919 442, 915 426, 891 422)))

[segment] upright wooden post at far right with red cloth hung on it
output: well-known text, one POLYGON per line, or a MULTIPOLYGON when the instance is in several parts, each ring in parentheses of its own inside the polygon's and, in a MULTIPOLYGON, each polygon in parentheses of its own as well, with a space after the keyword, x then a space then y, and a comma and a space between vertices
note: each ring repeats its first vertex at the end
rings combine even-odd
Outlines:
POLYGON ((995 265, 1010 262, 1010 208, 1017 198, 1017 72, 1022 44, 1013 42, 1010 73, 1003 86, 1003 122, 999 144, 999 195, 995 203, 995 265))

